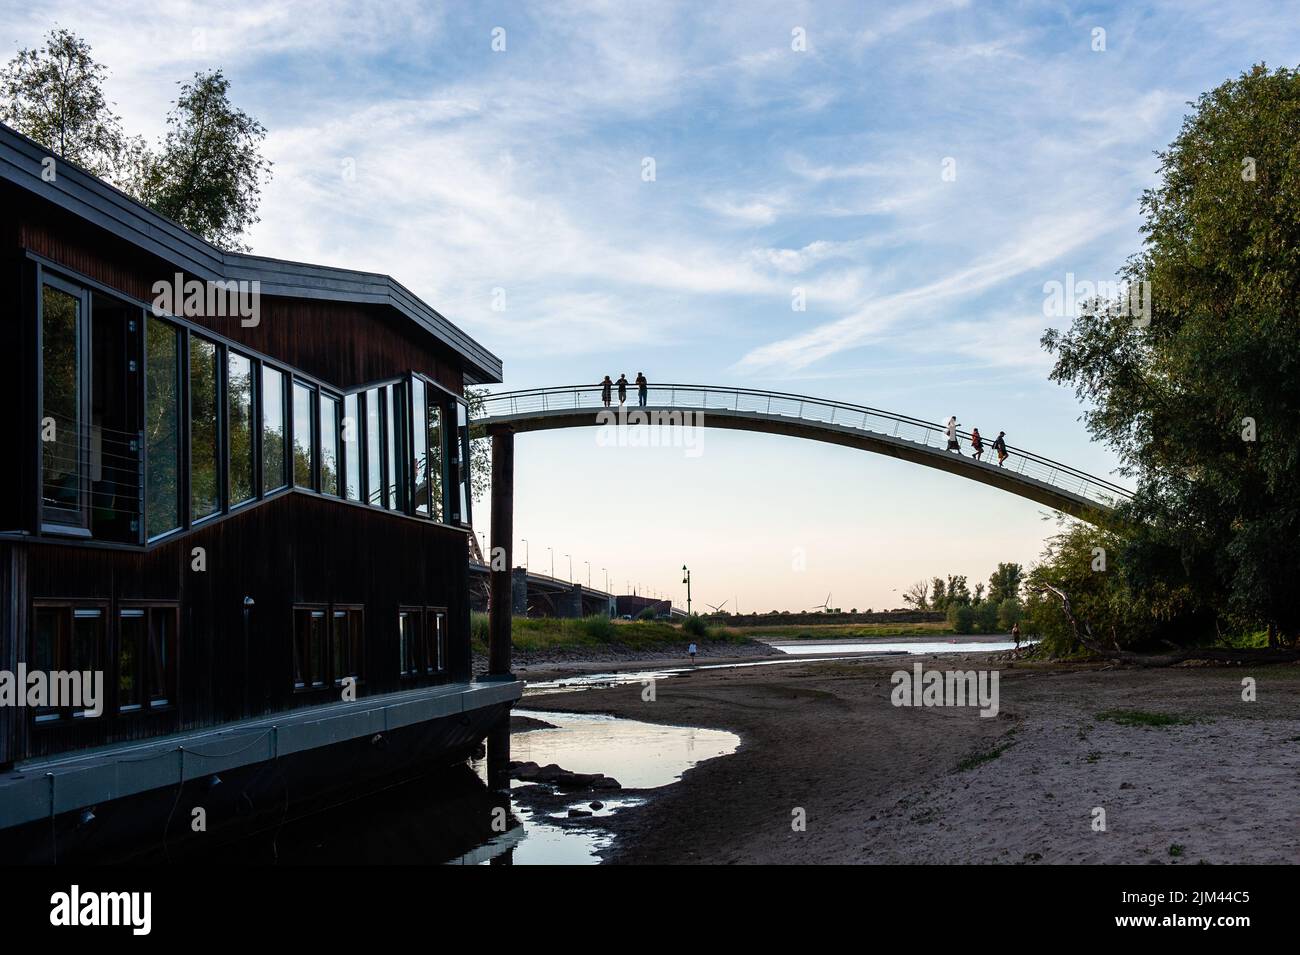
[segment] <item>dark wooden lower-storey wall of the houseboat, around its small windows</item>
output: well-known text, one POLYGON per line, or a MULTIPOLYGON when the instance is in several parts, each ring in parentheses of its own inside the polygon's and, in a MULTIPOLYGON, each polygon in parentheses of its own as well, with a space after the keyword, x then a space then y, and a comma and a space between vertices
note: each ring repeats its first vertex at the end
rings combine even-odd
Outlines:
MULTIPOLYGON (((294 604, 365 607, 359 696, 464 681, 471 676, 465 531, 376 508, 291 491, 148 552, 22 543, 31 600, 176 600, 181 605, 179 707, 160 713, 26 729, 25 756, 212 726, 339 699, 292 689, 294 604), (192 548, 207 570, 191 569, 192 548), (243 600, 251 596, 248 668, 243 600), (402 677, 398 608, 447 608, 445 674, 402 677), (246 708, 246 694, 251 703, 246 708)), ((27 654, 20 646, 20 656, 27 654)), ((105 680, 112 680, 108 668, 105 680)))

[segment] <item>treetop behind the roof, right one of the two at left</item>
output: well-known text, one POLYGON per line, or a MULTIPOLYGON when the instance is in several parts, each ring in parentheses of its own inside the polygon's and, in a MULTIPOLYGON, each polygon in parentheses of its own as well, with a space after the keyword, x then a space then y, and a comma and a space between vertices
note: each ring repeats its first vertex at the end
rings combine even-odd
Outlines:
POLYGON ((168 114, 161 152, 135 159, 133 191, 164 216, 226 249, 259 221, 265 127, 230 104, 221 70, 195 73, 168 114))

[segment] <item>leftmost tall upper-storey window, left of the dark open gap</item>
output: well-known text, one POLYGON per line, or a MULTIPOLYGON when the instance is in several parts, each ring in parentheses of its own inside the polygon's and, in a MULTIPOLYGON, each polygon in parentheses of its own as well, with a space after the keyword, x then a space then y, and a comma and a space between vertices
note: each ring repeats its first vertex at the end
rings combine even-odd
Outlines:
POLYGON ((61 287, 44 285, 40 305, 40 463, 44 518, 84 525, 84 299, 61 287))

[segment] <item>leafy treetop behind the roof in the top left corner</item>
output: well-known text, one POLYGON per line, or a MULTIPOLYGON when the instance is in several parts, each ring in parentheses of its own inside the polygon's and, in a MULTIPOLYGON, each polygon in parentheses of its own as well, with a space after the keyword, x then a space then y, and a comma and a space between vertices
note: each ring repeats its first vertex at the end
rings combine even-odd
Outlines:
POLYGON ((90 44, 55 29, 0 71, 0 121, 86 172, 112 178, 126 140, 104 96, 108 70, 90 44))

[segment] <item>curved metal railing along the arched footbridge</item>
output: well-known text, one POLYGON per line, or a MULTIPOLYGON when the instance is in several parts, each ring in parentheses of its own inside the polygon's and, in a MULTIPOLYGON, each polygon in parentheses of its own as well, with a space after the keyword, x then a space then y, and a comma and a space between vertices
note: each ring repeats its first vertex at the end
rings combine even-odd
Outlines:
MULTIPOLYGON (((489 394, 482 400, 482 404, 474 409, 474 413, 478 421, 486 421, 491 418, 526 417, 537 412, 551 411, 590 409, 595 412, 604 407, 599 385, 566 385, 560 387, 489 394)), ((618 409, 618 388, 614 388, 608 407, 618 409)), ((628 386, 628 398, 624 407, 630 409, 637 408, 637 391, 632 383, 628 386)), ((923 447, 932 447, 937 451, 944 451, 948 447, 948 431, 942 425, 850 401, 809 398, 806 395, 793 395, 781 391, 728 388, 714 385, 651 385, 646 392, 646 408, 650 411, 671 408, 702 411, 706 413, 708 411, 727 411, 772 417, 792 417, 801 421, 835 425, 848 430, 911 442, 923 447)), ((970 431, 958 430, 957 435, 961 442, 962 453, 967 460, 971 460, 970 431)), ((996 434, 982 435, 984 456, 980 461, 971 460, 974 466, 998 466, 997 453, 993 451, 994 437, 996 434)), ((1087 500, 1114 505, 1132 496, 1131 491, 1112 481, 1043 457, 1032 451, 1011 444, 1006 446, 1006 451, 1005 470, 1076 494, 1087 500)))

